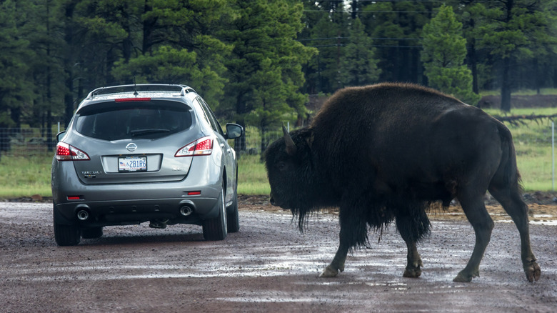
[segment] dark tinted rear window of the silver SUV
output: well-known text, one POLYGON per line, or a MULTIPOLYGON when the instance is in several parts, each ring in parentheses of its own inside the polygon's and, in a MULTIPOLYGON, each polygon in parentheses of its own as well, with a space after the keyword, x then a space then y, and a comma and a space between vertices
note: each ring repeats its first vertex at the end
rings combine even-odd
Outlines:
POLYGON ((87 106, 76 114, 76 131, 104 140, 157 139, 191 126, 191 109, 171 101, 87 106))

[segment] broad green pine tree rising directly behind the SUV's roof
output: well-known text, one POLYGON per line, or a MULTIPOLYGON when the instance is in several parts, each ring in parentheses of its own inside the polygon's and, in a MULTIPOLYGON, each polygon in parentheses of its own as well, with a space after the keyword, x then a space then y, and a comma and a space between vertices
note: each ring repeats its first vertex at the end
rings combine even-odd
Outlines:
POLYGON ((142 22, 134 25, 136 55, 121 57, 111 73, 121 80, 189 84, 204 91, 212 109, 223 111, 224 60, 231 46, 219 33, 231 19, 229 1, 157 0, 137 9, 142 22))

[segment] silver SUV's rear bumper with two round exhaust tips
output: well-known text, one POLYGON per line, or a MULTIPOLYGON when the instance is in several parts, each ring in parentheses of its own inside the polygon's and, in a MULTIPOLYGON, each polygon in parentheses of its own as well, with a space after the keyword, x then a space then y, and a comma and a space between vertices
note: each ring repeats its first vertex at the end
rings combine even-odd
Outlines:
POLYGON ((196 172, 204 169, 197 167, 189 173, 191 179, 179 182, 83 184, 76 177, 60 179, 62 174, 74 172, 71 167, 71 162, 56 161, 52 167, 56 177, 52 180, 54 214, 59 224, 99 227, 153 220, 201 224, 219 214, 223 186, 219 172, 196 172), (79 219, 80 212, 86 212, 87 218, 79 219))

